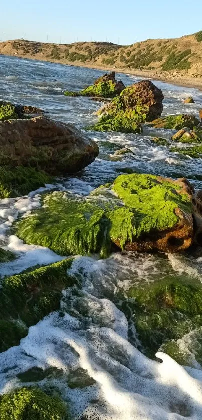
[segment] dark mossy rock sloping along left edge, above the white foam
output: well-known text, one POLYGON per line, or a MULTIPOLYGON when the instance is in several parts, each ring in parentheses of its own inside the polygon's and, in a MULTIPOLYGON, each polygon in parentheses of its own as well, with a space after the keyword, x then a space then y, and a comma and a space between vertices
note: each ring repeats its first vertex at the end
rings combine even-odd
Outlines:
POLYGON ((27 328, 60 308, 62 290, 75 283, 72 259, 6 277, 0 289, 0 350, 18 345, 27 328))

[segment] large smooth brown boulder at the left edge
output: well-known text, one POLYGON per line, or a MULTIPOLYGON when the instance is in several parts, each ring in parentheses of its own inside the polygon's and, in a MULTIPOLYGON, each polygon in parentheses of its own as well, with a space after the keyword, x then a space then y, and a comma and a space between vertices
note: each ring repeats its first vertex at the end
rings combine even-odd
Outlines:
POLYGON ((75 173, 92 163, 97 144, 70 124, 40 116, 0 123, 0 159, 52 175, 75 173))

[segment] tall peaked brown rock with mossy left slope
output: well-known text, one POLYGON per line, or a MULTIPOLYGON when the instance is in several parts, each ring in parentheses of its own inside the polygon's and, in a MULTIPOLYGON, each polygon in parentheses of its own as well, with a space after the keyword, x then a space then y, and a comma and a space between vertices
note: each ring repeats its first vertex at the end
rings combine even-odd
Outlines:
POLYGON ((143 123, 160 117, 163 111, 161 89, 149 80, 142 80, 125 88, 119 97, 104 105, 98 115, 108 115, 116 118, 130 118, 143 123))

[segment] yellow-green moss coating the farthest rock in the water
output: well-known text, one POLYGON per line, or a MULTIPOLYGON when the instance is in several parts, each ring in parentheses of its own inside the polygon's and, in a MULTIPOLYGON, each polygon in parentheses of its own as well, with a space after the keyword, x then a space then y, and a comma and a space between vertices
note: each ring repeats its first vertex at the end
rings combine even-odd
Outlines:
POLYGON ((112 80, 100 82, 95 85, 88 86, 79 92, 64 92, 66 96, 97 96, 100 98, 113 98, 117 96, 116 83, 112 80))

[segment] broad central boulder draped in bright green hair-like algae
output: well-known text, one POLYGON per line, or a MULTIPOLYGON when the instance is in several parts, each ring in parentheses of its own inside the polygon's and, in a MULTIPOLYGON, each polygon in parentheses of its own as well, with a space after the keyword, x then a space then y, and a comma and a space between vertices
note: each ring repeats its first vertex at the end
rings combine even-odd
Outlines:
POLYGON ((183 250, 192 243, 192 190, 184 181, 154 175, 120 175, 88 197, 54 192, 19 220, 16 234, 60 255, 121 249, 183 250))

